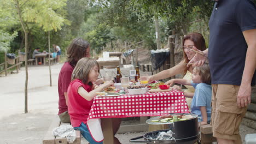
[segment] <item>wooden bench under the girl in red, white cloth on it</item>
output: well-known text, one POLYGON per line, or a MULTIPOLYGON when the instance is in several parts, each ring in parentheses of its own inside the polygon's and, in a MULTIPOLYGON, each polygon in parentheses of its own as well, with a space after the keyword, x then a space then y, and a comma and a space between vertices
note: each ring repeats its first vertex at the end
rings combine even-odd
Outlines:
MULTIPOLYGON (((51 122, 51 125, 46 132, 43 144, 68 144, 66 137, 62 138, 60 136, 53 136, 53 129, 56 127, 59 127, 63 124, 70 124, 70 123, 61 123, 59 116, 54 116, 53 122, 51 122)), ((75 134, 77 134, 77 137, 75 138, 75 141, 73 144, 80 144, 81 143, 81 134, 79 130, 75 130, 75 134)))

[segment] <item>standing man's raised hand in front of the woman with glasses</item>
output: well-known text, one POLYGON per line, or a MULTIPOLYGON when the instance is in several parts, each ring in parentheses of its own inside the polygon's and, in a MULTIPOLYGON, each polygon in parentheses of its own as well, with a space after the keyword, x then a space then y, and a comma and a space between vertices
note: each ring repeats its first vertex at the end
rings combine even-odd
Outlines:
MULTIPOLYGON (((200 51, 200 50, 196 49, 195 46, 193 46, 192 49, 195 50, 195 51, 205 53, 203 51, 200 51)), ((206 53, 205 53, 205 55, 201 55, 200 53, 196 53, 195 56, 187 64, 187 67, 190 67, 190 65, 192 65, 193 67, 203 65, 206 61, 206 56, 207 56, 206 53)))

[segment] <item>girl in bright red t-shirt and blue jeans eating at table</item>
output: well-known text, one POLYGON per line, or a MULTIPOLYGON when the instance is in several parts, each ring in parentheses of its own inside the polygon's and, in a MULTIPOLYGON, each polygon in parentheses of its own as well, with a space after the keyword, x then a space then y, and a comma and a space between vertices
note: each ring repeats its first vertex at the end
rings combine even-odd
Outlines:
POLYGON ((96 86, 100 67, 95 59, 82 58, 78 61, 72 73, 72 82, 68 86, 68 113, 70 115, 72 127, 80 130, 84 138, 91 144, 102 143, 96 141, 86 125, 91 105, 97 92, 112 86, 112 81, 106 81, 101 86, 96 86))

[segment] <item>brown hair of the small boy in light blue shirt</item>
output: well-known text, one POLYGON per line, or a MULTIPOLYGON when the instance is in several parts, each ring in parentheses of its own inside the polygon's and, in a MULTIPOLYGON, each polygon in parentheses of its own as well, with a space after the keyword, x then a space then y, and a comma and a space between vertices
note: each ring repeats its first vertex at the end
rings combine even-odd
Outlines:
POLYGON ((209 63, 205 63, 199 67, 195 67, 194 68, 196 70, 196 72, 199 73, 199 75, 201 76, 202 82, 206 83, 208 85, 211 85, 211 73, 210 73, 210 66, 209 63))

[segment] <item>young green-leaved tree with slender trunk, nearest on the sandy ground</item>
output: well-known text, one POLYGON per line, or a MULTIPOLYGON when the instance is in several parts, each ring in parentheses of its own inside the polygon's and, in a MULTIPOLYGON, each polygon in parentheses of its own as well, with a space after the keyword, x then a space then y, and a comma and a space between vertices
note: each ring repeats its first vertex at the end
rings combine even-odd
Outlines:
POLYGON ((63 17, 55 11, 66 4, 65 0, 56 1, 32 1, 32 0, 9 0, 9 10, 15 10, 18 13, 22 30, 25 34, 25 53, 26 53, 26 79, 25 79, 25 113, 27 113, 27 83, 28 83, 28 70, 27 70, 27 51, 28 51, 28 26, 27 23, 39 25, 44 31, 51 29, 60 29, 65 21, 63 17), (52 22, 55 21, 55 22, 52 22))

